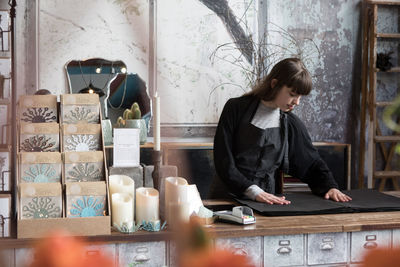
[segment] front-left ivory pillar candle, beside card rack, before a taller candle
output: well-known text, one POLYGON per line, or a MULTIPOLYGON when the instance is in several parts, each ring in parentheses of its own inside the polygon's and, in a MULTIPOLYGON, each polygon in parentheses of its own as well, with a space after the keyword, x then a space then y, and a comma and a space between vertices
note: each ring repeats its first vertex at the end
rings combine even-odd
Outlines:
POLYGON ((112 223, 122 226, 126 223, 129 228, 133 226, 133 198, 128 193, 114 193, 111 195, 112 223))

